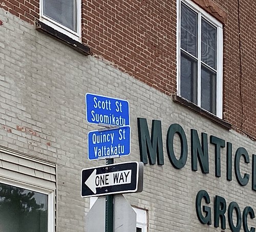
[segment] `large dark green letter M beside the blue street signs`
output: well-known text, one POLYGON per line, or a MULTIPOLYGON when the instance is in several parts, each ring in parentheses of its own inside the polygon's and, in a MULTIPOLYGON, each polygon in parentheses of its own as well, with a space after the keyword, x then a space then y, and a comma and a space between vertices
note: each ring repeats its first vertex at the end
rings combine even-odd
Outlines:
POLYGON ((150 164, 163 165, 163 140, 161 121, 152 120, 151 139, 148 132, 148 126, 145 118, 137 118, 138 121, 138 134, 139 134, 139 147, 140 147, 140 160, 147 164, 147 157, 150 164))

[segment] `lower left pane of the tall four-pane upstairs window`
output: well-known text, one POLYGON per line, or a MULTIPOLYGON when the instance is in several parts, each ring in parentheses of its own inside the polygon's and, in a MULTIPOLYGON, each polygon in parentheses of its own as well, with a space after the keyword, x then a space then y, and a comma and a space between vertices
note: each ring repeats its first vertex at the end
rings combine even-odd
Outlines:
POLYGON ((197 104, 197 62, 183 53, 180 61, 180 94, 197 104))

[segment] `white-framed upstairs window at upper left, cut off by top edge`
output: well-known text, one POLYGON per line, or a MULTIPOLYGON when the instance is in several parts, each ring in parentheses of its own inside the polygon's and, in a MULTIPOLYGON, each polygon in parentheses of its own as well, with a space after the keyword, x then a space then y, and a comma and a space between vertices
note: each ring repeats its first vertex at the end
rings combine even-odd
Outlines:
POLYGON ((41 0, 40 21, 79 41, 81 0, 41 0))

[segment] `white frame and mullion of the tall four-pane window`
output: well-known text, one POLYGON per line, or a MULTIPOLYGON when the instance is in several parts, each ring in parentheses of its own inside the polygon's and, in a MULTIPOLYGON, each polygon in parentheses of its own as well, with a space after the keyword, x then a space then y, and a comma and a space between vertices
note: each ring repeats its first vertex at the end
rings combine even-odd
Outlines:
MULTIPOLYGON (((201 17, 209 21, 211 24, 215 25, 217 28, 217 73, 216 73, 216 116, 222 119, 223 111, 223 27, 222 23, 219 22, 216 18, 212 17, 206 11, 201 9, 198 5, 191 2, 190 0, 177 0, 177 95, 180 95, 180 9, 181 2, 188 6, 191 10, 198 13, 198 20, 201 20, 201 17)), ((201 24, 201 23, 200 23, 201 24)), ((200 29, 198 29, 198 37, 201 36, 200 29)), ((201 42, 201 39, 200 39, 201 42)), ((198 49, 201 49, 201 43, 198 44, 198 49)), ((199 54, 201 56, 201 54, 199 54)), ((201 107, 201 59, 198 62, 198 83, 197 83, 197 106, 201 107)), ((181 96, 182 97, 182 96, 181 96)), ((210 112, 209 112, 210 113, 210 112)), ((211 113, 210 113, 211 114, 211 113)))

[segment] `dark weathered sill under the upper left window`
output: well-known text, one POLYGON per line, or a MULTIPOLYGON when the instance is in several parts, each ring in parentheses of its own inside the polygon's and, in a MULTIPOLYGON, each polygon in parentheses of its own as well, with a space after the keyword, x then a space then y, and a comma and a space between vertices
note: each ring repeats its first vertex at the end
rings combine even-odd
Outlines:
POLYGON ((75 50, 77 50, 81 54, 84 54, 86 56, 91 54, 90 47, 83 45, 82 43, 80 43, 76 40, 71 39, 69 36, 67 36, 61 32, 58 32, 57 30, 49 27, 48 25, 46 25, 45 23, 43 23, 41 21, 36 22, 36 30, 53 36, 54 38, 60 40, 61 42, 64 42, 64 43, 68 44, 69 46, 73 47, 75 50))

